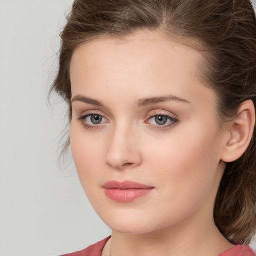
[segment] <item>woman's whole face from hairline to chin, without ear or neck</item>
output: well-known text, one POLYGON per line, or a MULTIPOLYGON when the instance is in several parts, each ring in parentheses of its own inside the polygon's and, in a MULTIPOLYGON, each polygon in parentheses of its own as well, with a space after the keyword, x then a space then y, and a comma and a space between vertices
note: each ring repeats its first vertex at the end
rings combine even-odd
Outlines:
POLYGON ((200 58, 156 32, 75 50, 71 151, 88 199, 113 230, 212 221, 224 135, 215 94, 197 76, 200 58))

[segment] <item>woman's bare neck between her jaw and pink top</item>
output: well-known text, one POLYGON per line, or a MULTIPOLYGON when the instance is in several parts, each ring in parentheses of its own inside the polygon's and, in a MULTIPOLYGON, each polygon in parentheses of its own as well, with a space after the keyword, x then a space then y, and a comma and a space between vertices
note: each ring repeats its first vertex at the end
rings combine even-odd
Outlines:
MULTIPOLYGON (((190 221, 146 234, 112 232, 111 256, 216 256, 234 245, 229 243, 211 221, 190 221), (194 226, 193 223, 196 223, 194 226), (198 224, 200 223, 200 224, 198 224)), ((110 253, 111 251, 111 253, 110 253)))

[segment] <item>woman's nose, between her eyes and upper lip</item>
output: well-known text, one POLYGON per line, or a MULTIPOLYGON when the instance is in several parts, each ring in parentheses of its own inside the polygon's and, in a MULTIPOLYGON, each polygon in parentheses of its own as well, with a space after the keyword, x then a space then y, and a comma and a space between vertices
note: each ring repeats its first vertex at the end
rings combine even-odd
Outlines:
POLYGON ((116 127, 109 137, 105 161, 110 167, 119 170, 139 166, 142 156, 136 131, 116 127))

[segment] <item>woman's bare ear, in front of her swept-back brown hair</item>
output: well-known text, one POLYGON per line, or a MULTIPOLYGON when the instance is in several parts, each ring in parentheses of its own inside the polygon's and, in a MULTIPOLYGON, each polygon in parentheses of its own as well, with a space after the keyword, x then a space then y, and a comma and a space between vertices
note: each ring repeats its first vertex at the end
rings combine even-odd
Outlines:
POLYGON ((255 108, 251 100, 244 101, 238 115, 230 122, 222 151, 221 160, 232 162, 237 160, 247 149, 255 126, 255 108))

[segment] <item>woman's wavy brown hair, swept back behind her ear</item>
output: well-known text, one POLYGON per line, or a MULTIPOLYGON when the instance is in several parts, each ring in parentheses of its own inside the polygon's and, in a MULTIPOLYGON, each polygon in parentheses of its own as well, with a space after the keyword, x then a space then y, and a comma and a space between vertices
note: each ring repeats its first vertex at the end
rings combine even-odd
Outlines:
MULTIPOLYGON (((217 95, 223 123, 236 116, 244 101, 255 106, 255 28, 249 0, 75 0, 60 34, 59 69, 50 93, 67 102, 71 121, 69 66, 74 50, 97 38, 157 31, 200 50, 200 76, 217 95)), ((232 243, 249 243, 256 228, 255 155, 254 130, 245 153, 227 163, 215 199, 215 224, 232 243)))

